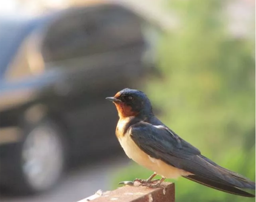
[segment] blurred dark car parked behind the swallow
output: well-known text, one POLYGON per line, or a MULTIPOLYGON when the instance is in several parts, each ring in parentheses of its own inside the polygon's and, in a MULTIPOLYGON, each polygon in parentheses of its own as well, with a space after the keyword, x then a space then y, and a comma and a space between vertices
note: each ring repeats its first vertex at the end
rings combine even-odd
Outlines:
POLYGON ((68 163, 120 148, 105 97, 152 69, 144 23, 112 4, 0 18, 0 185, 41 192, 68 163))

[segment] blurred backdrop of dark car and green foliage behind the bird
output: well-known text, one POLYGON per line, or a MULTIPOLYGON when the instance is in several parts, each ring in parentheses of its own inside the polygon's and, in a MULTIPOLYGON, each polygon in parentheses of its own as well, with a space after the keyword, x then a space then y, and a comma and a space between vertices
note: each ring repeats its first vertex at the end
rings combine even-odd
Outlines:
MULTIPOLYGON (((254 0, 8 0, 0 6, 0 201, 75 202, 151 171, 125 156, 114 105, 154 112, 255 181, 254 0)), ((176 201, 253 202, 186 179, 176 201)))

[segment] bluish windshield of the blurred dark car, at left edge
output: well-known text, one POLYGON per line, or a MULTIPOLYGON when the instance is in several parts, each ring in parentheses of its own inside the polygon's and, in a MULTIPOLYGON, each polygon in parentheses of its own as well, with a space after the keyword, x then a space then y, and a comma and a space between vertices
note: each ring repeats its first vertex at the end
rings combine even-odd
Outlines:
POLYGON ((0 78, 12 61, 18 47, 32 30, 32 26, 0 19, 0 78))

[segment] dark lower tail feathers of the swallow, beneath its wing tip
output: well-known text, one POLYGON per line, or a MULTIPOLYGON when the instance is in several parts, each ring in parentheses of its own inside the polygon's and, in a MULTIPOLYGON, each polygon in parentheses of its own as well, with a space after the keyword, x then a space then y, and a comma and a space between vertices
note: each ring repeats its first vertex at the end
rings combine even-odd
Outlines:
POLYGON ((218 189, 220 191, 224 191, 224 192, 227 192, 230 194, 240 195, 240 196, 244 196, 244 197, 255 197, 255 195, 248 193, 246 191, 243 191, 235 186, 229 186, 229 185, 222 184, 220 182, 211 181, 209 179, 206 179, 206 178, 198 176, 198 175, 188 175, 188 176, 183 176, 183 177, 185 177, 189 180, 192 180, 194 182, 197 182, 201 185, 209 186, 211 188, 215 188, 215 189, 218 189))

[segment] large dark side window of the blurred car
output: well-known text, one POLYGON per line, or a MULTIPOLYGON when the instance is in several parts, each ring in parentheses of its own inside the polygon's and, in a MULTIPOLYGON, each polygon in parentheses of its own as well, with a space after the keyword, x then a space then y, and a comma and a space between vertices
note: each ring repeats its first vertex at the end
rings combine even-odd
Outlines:
POLYGON ((140 43, 137 16, 118 6, 96 6, 67 13, 53 23, 43 41, 45 62, 80 58, 140 43))

